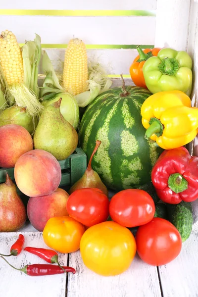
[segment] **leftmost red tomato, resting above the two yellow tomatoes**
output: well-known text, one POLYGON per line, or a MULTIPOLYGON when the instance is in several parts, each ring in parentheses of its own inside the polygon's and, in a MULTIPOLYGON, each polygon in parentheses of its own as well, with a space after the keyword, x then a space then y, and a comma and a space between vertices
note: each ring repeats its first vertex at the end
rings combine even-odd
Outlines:
POLYGON ((96 188, 74 191, 67 200, 69 215, 85 226, 91 227, 107 220, 109 200, 96 188))

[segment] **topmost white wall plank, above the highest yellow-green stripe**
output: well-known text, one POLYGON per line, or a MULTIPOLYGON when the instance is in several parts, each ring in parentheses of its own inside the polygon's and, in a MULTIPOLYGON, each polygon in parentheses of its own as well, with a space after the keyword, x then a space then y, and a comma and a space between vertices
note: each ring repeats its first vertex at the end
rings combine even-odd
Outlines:
POLYGON ((150 9, 156 8, 157 0, 15 0, 2 1, 1 9, 150 9))

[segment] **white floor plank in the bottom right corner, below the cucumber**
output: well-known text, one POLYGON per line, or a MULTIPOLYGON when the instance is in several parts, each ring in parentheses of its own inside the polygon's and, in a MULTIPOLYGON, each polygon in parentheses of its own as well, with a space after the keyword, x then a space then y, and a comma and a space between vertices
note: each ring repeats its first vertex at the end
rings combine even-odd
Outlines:
POLYGON ((183 243, 179 256, 159 267, 163 297, 198 296, 198 234, 183 243))

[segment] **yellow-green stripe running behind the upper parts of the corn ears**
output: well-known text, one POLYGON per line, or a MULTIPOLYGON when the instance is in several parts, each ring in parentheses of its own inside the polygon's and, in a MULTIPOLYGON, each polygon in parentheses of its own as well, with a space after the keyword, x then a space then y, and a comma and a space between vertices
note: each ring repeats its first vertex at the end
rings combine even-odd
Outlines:
MULTIPOLYGON (((24 44, 19 44, 20 47, 24 44)), ((43 49, 66 49, 67 44, 42 44, 43 49)), ((138 45, 86 45, 87 49, 137 49, 138 45)), ((140 45, 142 49, 153 49, 153 45, 140 45)))

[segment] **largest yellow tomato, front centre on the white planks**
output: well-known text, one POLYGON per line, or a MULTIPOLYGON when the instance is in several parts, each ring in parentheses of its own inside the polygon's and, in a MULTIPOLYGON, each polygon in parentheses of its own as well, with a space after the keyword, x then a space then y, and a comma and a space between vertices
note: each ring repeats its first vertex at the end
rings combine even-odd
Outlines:
POLYGON ((90 227, 80 242, 84 264, 103 275, 117 275, 129 268, 136 253, 133 234, 115 222, 107 221, 90 227))

